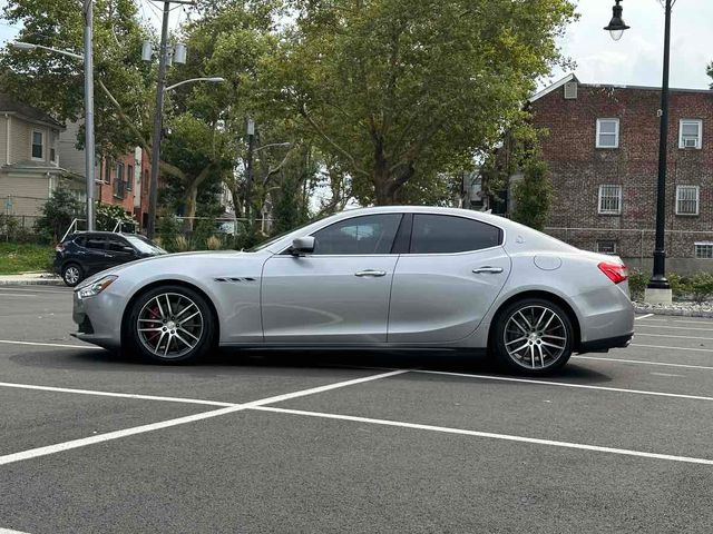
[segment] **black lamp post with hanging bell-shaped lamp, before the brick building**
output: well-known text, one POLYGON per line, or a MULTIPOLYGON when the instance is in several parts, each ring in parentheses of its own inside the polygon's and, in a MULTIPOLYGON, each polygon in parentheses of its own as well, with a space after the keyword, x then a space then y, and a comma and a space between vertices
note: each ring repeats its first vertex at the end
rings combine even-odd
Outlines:
MULTIPOLYGON (((622 0, 614 0, 613 17, 605 27, 615 41, 618 41, 629 27, 622 19, 622 0)), ((654 249, 654 269, 646 287, 646 301, 671 303, 671 285, 666 279, 666 157, 668 154, 668 68, 671 63, 671 8, 672 0, 665 0, 664 66, 661 85, 661 122, 658 134, 658 181, 656 187, 656 246, 654 249)))

